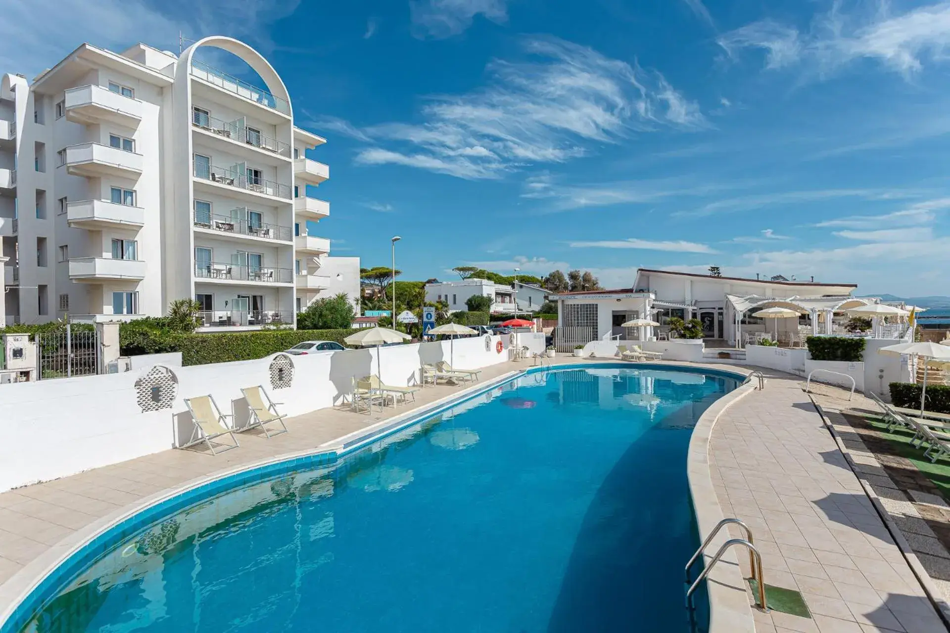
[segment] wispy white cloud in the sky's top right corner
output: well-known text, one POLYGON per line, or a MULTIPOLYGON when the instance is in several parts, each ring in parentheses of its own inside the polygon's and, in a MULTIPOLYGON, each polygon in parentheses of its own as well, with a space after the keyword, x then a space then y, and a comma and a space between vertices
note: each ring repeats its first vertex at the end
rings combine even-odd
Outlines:
POLYGON ((734 57, 742 48, 766 52, 766 67, 800 66, 819 77, 859 59, 875 60, 909 75, 921 70, 924 61, 942 63, 950 45, 950 2, 939 2, 902 13, 878 0, 846 12, 835 2, 818 15, 810 28, 780 24, 771 19, 753 22, 719 37, 718 43, 734 57))

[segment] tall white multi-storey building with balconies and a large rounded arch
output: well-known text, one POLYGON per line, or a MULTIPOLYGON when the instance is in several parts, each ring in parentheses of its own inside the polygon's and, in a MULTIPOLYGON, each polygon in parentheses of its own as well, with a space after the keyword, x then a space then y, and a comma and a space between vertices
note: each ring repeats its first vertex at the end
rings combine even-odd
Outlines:
POLYGON ((84 44, 38 76, 0 77, 0 237, 7 321, 158 316, 193 297, 203 330, 294 324, 318 296, 358 308, 359 260, 330 257, 307 222, 330 214, 257 51, 205 38, 180 55, 84 44), (195 59, 234 53, 264 86, 195 59))

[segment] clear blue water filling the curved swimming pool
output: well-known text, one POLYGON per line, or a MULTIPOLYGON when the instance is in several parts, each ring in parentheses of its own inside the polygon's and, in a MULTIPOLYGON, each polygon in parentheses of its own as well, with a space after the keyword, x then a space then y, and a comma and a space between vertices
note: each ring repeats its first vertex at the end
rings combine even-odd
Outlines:
POLYGON ((630 365, 520 378, 123 540, 23 630, 685 633, 687 446, 735 386, 630 365))

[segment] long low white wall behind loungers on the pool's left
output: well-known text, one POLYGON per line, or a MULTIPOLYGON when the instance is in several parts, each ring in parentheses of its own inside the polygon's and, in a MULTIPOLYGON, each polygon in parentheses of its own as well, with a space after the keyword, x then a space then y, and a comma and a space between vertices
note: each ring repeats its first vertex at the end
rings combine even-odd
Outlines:
MULTIPOLYGON (((543 339, 542 339, 543 340, 543 339)), ((479 369, 508 360, 507 336, 457 339, 456 367, 479 369), (504 345, 502 353, 496 344, 504 345)), ((423 363, 451 360, 448 341, 379 349, 295 356, 292 386, 270 387, 272 357, 257 361, 174 367, 179 386, 171 409, 142 413, 135 382, 148 371, 85 376, 0 386, 0 492, 37 481, 74 475, 173 448, 193 428, 184 398, 211 394, 223 413, 246 419, 240 388, 261 384, 289 416, 333 406, 352 388, 352 378, 380 373, 393 385, 414 384, 423 363)))

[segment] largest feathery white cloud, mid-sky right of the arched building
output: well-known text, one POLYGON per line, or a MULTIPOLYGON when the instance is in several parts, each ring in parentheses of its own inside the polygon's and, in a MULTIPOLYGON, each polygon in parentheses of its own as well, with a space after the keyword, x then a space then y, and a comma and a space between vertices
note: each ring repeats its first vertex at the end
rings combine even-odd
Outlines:
POLYGON ((655 71, 556 38, 525 38, 522 45, 527 61, 494 60, 485 87, 432 97, 421 123, 359 130, 345 121, 327 122, 373 142, 357 162, 403 164, 469 179, 563 162, 585 155, 593 144, 616 143, 634 132, 707 125, 698 106, 655 71))

